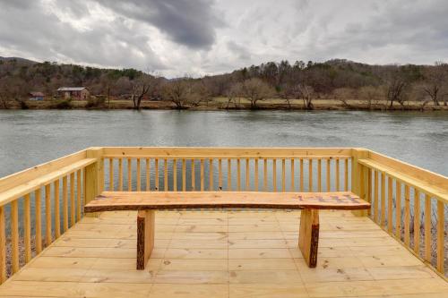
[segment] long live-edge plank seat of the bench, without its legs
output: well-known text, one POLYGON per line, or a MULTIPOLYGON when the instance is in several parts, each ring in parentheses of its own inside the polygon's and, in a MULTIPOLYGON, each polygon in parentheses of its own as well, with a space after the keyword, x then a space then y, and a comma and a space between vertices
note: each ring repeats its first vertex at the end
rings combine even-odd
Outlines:
POLYGON ((103 192, 85 212, 141 209, 369 209, 351 192, 103 192))

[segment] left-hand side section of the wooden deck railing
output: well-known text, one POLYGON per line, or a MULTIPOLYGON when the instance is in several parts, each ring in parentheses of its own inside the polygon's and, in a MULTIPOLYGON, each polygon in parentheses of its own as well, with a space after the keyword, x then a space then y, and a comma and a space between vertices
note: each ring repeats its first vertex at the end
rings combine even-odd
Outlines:
POLYGON ((88 185, 100 165, 96 152, 83 150, 0 179, 0 283, 81 219, 82 197, 95 195, 88 185))

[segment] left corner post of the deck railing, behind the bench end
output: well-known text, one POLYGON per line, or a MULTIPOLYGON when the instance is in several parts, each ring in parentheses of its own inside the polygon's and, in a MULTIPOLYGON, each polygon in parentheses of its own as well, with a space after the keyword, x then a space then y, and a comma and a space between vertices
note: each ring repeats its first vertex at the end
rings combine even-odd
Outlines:
MULTIPOLYGON (((94 200, 104 190, 104 161, 103 149, 92 147, 86 150, 86 158, 95 158, 96 162, 85 167, 84 172, 84 204, 94 200)), ((97 217, 97 213, 90 213, 89 217, 97 217)))

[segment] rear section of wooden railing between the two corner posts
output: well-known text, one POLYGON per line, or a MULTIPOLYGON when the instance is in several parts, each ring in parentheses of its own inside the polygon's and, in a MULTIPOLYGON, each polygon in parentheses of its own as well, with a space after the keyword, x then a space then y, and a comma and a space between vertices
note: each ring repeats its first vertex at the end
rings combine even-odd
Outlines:
POLYGON ((351 149, 105 148, 108 191, 349 191, 351 149))

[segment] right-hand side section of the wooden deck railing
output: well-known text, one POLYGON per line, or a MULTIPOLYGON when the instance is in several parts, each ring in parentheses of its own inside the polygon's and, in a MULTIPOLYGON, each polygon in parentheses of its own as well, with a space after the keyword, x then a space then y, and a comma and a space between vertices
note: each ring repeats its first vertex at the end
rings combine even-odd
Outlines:
POLYGON ((444 275, 448 178, 368 151, 358 159, 360 195, 376 224, 444 275))

